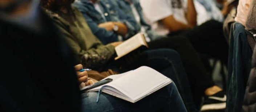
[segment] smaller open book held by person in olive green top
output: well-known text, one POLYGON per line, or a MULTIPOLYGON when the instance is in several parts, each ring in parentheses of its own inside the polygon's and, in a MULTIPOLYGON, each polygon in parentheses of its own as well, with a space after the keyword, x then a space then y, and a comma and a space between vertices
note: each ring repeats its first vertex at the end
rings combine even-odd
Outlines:
POLYGON ((138 33, 115 47, 115 52, 117 53, 117 57, 115 57, 115 60, 123 57, 131 51, 138 49, 141 46, 148 47, 144 35, 142 33, 138 33))

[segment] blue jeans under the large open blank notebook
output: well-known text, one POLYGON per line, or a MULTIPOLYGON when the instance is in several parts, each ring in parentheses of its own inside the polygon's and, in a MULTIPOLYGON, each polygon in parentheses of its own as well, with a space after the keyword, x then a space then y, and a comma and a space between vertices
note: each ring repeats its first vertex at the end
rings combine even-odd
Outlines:
POLYGON ((187 112, 179 92, 172 82, 136 103, 98 92, 82 94, 82 112, 187 112))

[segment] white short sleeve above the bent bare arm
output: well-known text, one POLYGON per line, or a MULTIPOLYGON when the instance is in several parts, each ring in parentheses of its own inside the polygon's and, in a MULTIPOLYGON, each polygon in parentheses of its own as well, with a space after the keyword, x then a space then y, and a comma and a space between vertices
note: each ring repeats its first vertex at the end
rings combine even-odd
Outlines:
POLYGON ((144 16, 149 22, 157 22, 173 14, 171 0, 140 0, 144 16))

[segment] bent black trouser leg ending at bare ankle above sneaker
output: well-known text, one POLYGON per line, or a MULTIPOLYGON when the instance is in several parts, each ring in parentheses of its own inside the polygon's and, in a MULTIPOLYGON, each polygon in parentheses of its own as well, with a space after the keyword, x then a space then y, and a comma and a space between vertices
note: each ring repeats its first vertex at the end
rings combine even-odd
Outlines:
MULTIPOLYGON (((183 36, 174 36, 149 42, 148 45, 150 49, 170 48, 180 54, 182 64, 188 76, 194 102, 199 108, 204 91, 215 84, 190 41, 183 36)), ((178 83, 176 84, 178 85, 178 83)))

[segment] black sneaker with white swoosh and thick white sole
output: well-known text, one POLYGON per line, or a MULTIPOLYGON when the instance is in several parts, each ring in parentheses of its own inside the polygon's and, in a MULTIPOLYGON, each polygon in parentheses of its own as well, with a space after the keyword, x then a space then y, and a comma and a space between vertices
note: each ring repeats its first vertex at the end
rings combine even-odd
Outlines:
POLYGON ((204 99, 204 104, 201 108, 202 112, 224 112, 226 108, 227 96, 224 91, 220 91, 212 96, 207 96, 204 99))

